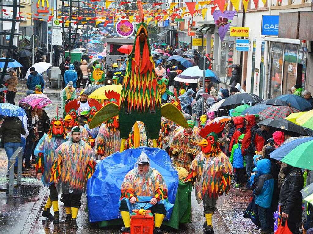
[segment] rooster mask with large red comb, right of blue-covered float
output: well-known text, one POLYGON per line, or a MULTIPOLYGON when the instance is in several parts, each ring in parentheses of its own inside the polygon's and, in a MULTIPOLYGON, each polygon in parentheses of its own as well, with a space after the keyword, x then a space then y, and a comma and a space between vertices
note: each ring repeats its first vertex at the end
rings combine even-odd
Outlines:
POLYGON ((223 128, 224 124, 212 123, 200 130, 200 136, 203 137, 203 140, 198 145, 201 146, 201 151, 204 154, 210 154, 210 156, 219 154, 221 149, 218 141, 218 133, 223 128))

